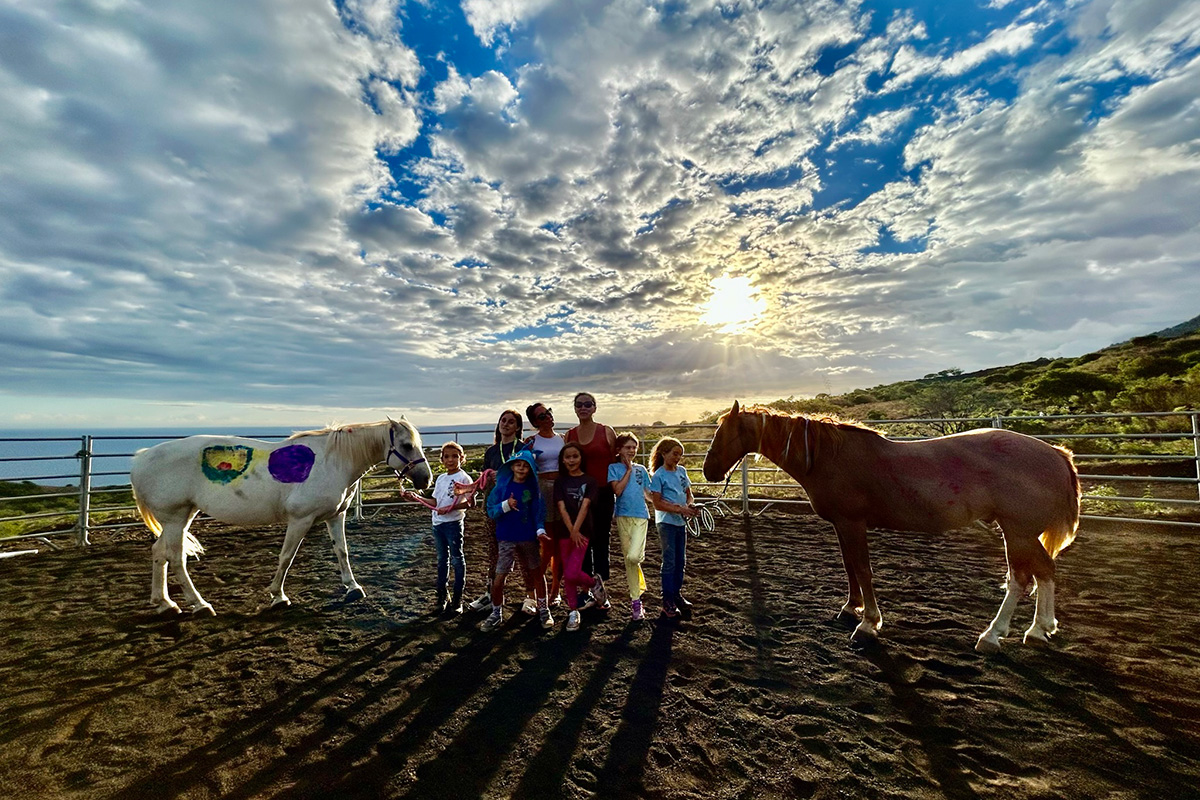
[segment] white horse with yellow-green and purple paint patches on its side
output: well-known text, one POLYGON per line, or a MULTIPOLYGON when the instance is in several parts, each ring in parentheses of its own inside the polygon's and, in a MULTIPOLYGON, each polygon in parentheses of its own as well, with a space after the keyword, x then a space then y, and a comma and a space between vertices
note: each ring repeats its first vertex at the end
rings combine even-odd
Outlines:
POLYGON ((287 523, 270 587, 272 607, 292 602, 283 593, 288 569, 308 529, 324 522, 342 571, 343 600, 361 600, 365 593, 346 551, 346 511, 354 483, 379 462, 416 488, 432 479, 421 437, 403 417, 304 431, 276 443, 202 435, 139 450, 130 474, 133 497, 158 536, 151 549, 150 604, 158 613, 180 612, 167 594, 170 564, 191 610, 215 615, 187 575, 187 557, 204 552, 188 530, 200 511, 234 525, 287 523))

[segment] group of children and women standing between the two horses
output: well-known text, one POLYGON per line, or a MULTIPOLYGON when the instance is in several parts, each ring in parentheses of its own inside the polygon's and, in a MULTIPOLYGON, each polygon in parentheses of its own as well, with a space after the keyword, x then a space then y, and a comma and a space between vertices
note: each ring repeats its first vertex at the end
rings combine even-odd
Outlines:
MULTIPOLYGON (((535 425, 538 409, 550 411, 540 404, 530 409, 530 421, 535 425)), ((485 487, 488 591, 467 606, 470 610, 490 609, 480 628, 492 631, 504 621, 504 583, 517 569, 524 578, 522 610, 536 615, 544 628, 554 625, 552 606, 565 603, 568 631, 578 630, 581 610, 611 608, 608 590, 598 567, 602 560, 607 572, 613 519, 625 559, 630 615, 635 620, 644 619, 646 576, 641 565, 649 528, 648 503, 654 506, 662 545, 662 614, 667 618, 690 614, 691 603, 682 594, 688 541, 684 523, 685 517, 698 511, 688 470, 680 464, 683 444, 670 437, 660 439, 650 452, 650 470, 647 470, 636 463, 638 440, 632 433, 617 435, 616 452, 610 452, 610 446, 586 446, 558 434, 554 437, 560 444, 556 443, 554 447, 546 447, 547 443, 542 441, 550 437, 538 434, 521 441, 517 438, 521 428, 520 415, 505 410, 497 423, 496 443, 484 457, 485 471, 496 470, 494 483, 490 489, 485 487), (547 449, 557 450, 557 463, 546 459, 547 449), (606 462, 607 486, 594 477, 605 474, 604 470, 596 465, 588 469, 589 457, 606 462), (552 469, 556 467, 557 470, 552 469), (552 477, 547 480, 547 475, 552 477)), ((593 443, 595 439, 593 437, 593 443)), ((458 443, 442 446, 445 471, 438 476, 432 492, 438 565, 436 610, 446 614, 464 610, 463 521, 466 509, 474 505, 475 488, 470 475, 462 469, 463 457, 458 443)), ((410 492, 404 495, 420 499, 410 492)))

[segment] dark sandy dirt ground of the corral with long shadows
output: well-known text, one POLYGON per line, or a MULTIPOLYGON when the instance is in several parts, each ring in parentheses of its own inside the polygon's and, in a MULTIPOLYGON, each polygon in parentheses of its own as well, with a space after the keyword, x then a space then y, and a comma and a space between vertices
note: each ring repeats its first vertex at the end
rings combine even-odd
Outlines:
MULTIPOLYGON (((467 533, 473 595, 479 511, 467 533)), ((866 651, 833 621, 845 576, 815 517, 690 540, 690 621, 632 622, 614 559, 618 602, 578 632, 516 602, 486 634, 481 614, 432 616, 416 511, 352 524, 350 604, 323 529, 283 612, 262 609, 281 531, 200 539, 216 618, 150 613, 145 531, 0 560, 0 796, 1200 796, 1200 535, 1182 529, 1085 521, 1058 559, 1060 634, 992 657, 972 646, 1003 543, 978 529, 872 534, 866 651)))

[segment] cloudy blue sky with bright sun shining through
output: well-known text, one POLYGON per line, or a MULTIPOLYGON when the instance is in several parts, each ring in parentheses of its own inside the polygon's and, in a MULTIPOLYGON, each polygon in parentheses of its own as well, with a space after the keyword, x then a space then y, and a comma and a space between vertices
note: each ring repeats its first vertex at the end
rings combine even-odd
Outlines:
POLYGON ((1079 355, 1198 313, 1198 88, 1187 0, 0 0, 0 427, 1079 355))

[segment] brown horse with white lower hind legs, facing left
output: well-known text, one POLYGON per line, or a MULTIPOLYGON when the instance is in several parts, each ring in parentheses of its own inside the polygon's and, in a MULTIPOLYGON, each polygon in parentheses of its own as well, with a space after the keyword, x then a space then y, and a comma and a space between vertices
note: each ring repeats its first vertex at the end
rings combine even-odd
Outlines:
POLYGON ((1058 630, 1054 559, 1079 527, 1079 474, 1069 451, 992 428, 892 441, 860 425, 742 409, 734 402, 704 456, 704 477, 722 480, 749 452, 796 479, 817 516, 833 523, 850 579, 838 616, 860 619, 853 643, 874 640, 883 625, 871 585, 868 528, 942 533, 977 521, 1003 531, 1008 581, 976 650, 1000 650, 1018 601, 1034 587, 1037 610, 1025 640, 1045 642, 1058 630))

